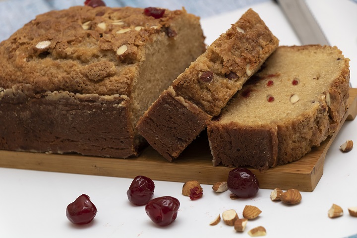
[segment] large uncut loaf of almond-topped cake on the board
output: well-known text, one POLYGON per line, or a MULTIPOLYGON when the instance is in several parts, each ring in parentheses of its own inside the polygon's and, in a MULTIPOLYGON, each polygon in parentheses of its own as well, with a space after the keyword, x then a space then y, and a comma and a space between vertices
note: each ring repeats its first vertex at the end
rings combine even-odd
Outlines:
POLYGON ((0 43, 0 149, 136 156, 137 120, 205 49, 184 9, 39 15, 0 43))

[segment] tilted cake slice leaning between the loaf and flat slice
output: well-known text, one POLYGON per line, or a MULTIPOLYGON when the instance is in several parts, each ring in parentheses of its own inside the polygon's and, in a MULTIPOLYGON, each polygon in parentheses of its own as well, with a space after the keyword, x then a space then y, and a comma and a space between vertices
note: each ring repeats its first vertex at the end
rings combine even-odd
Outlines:
POLYGON ((278 43, 259 15, 249 9, 145 112, 137 124, 140 134, 167 160, 177 158, 278 43))

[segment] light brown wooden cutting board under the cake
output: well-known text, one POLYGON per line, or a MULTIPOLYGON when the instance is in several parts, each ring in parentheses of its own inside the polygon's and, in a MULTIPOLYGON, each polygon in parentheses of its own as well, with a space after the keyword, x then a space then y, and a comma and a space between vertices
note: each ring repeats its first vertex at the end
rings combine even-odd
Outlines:
MULTIPOLYGON (((349 109, 341 126, 345 120, 355 119, 356 115, 357 89, 351 88, 349 109)), ((313 148, 296 162, 277 166, 264 174, 251 169, 259 180, 260 188, 280 187, 283 190, 297 188, 300 191, 312 191, 323 174, 326 152, 340 128, 334 136, 327 138, 321 146, 313 148)), ((198 180, 203 184, 225 181, 232 170, 224 166, 212 166, 212 156, 204 132, 172 163, 153 148, 147 147, 138 158, 132 159, 0 151, 0 167, 121 178, 144 175, 154 180, 198 180)))

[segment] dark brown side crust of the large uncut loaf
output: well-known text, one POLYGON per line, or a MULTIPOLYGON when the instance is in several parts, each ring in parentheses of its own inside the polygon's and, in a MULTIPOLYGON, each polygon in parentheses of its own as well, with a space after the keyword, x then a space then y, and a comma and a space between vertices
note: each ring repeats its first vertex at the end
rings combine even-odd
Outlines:
POLYGON ((128 129, 127 108, 122 106, 125 100, 119 95, 108 99, 54 92, 29 97, 12 89, 2 94, 2 150, 117 158, 138 155, 128 129))

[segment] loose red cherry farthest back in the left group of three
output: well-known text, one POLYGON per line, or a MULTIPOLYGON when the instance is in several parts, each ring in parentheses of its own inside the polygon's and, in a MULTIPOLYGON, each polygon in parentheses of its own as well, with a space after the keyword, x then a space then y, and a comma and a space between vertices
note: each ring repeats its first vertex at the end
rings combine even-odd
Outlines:
POLYGON ((145 205, 154 196, 155 184, 145 176, 136 176, 131 182, 126 195, 135 205, 145 205))

